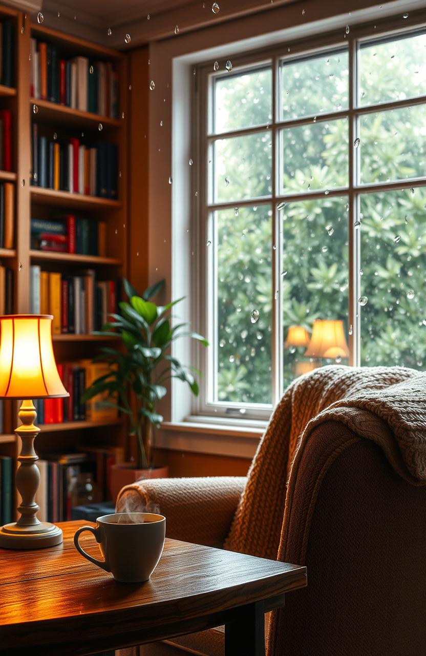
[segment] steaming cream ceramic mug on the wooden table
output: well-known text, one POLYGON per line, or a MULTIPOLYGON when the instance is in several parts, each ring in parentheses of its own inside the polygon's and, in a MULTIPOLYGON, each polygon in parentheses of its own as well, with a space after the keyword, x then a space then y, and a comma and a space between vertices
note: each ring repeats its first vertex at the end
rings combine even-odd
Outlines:
POLYGON ((116 512, 96 520, 96 528, 82 526, 74 535, 74 544, 91 563, 111 572, 116 581, 147 581, 163 553, 166 518, 152 512, 116 512), (81 548, 79 535, 90 531, 99 544, 104 560, 92 558, 81 548))

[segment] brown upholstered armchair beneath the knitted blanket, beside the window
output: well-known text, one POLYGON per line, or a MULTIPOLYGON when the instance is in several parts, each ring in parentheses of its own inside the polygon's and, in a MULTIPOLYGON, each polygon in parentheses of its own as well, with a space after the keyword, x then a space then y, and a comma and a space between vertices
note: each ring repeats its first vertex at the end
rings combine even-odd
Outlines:
MULTIPOLYGON (((319 375, 310 379, 317 389, 319 375)), ((370 380, 370 392, 371 385, 370 380)), ((420 385, 416 379, 416 385, 426 402, 426 377, 420 380, 420 385)), ((401 390, 401 395, 406 403, 413 400, 407 400, 406 390, 401 390)), ((293 389, 290 403, 293 412, 296 396, 293 389)), ((303 433, 305 437, 292 462, 289 444, 294 440, 290 436, 290 441, 282 442, 282 420, 288 409, 285 399, 286 395, 271 420, 247 479, 144 481, 121 491, 117 509, 129 505, 132 509, 157 506, 167 516, 168 537, 243 550, 241 525, 247 518, 244 504, 247 505, 248 498, 254 499, 250 518, 255 526, 255 511, 260 510, 259 515, 267 517, 273 499, 272 525, 275 526, 278 516, 281 535, 277 537, 277 531, 272 528, 268 540, 259 546, 250 536, 246 550, 256 551, 256 555, 263 555, 263 550, 266 557, 271 557, 271 550, 276 548, 279 560, 307 565, 308 585, 288 594, 285 608, 273 613, 267 622, 268 655, 423 656, 426 486, 408 471, 404 474, 401 469, 402 475, 398 471, 404 463, 398 461, 395 444, 392 441, 389 441, 391 446, 387 444, 387 440, 393 440, 389 432, 392 421, 385 424, 383 411, 374 415, 369 410, 368 415, 358 407, 362 404, 351 400, 347 404, 351 406, 350 419, 345 419, 340 401, 336 414, 339 420, 327 419, 332 417, 330 410, 324 420, 315 420, 311 429, 303 433), (359 426, 364 424, 366 427, 361 430, 359 426), (271 432, 277 436, 280 431, 280 441, 273 441, 271 432), (269 453, 268 460, 268 450, 276 449, 277 443, 287 449, 286 457, 280 461, 279 454, 269 453), (397 464, 389 456, 392 449, 397 464), (276 475, 272 476, 275 461, 279 461, 279 470, 283 471, 279 475, 275 468, 276 475), (265 507, 259 509, 263 497, 256 496, 256 485, 265 468, 265 507), (288 485, 285 484, 287 470, 291 472, 288 485), (268 486, 271 499, 265 497, 268 486)), ((328 401, 320 394, 311 416, 327 409, 328 401)), ((376 401, 375 397, 377 405, 376 401)), ((422 403, 419 402, 419 407, 422 403)), ((382 410, 383 407, 385 402, 382 410)), ((410 407, 410 417, 426 433, 421 412, 413 416, 410 407)), ((294 417, 291 422, 294 424, 294 417)), ((396 433, 398 430, 395 428, 396 433)), ((286 434, 290 433, 287 430, 286 434)), ((425 445, 422 448, 426 449, 425 445)), ((421 466, 424 469, 423 461, 421 466)), ((223 630, 218 628, 144 646, 141 653, 144 656, 184 653, 223 656, 223 630)))

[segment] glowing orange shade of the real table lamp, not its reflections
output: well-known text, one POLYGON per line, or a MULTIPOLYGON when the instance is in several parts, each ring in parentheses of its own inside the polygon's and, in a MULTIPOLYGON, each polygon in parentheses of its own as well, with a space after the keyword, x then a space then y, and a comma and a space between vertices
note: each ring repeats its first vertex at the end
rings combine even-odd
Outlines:
POLYGON ((0 316, 0 398, 69 396, 56 369, 52 316, 0 316))

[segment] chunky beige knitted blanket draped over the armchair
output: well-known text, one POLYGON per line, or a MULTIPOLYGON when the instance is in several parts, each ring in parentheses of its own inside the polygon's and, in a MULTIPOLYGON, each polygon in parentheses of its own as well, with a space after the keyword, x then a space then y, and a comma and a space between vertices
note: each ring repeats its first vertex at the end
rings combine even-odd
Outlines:
POLYGON ((426 373, 329 366, 284 392, 248 472, 225 548, 276 559, 292 463, 320 423, 334 420, 378 443, 395 471, 426 484, 426 373))

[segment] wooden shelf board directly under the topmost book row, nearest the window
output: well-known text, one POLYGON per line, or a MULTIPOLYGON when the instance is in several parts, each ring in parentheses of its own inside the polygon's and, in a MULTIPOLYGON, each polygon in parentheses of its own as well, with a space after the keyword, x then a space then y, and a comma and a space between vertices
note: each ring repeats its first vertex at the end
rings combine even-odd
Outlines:
POLYGON ((74 110, 66 105, 60 105, 57 102, 50 102, 50 100, 41 100, 41 98, 30 98, 29 103, 31 107, 37 105, 39 111, 35 120, 41 123, 62 123, 66 125, 78 125, 79 127, 87 127, 98 129, 99 123, 102 127, 121 128, 123 127, 123 119, 111 119, 109 116, 101 116, 90 112, 81 112, 81 110, 74 110))

